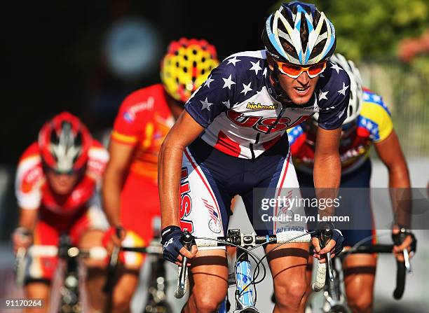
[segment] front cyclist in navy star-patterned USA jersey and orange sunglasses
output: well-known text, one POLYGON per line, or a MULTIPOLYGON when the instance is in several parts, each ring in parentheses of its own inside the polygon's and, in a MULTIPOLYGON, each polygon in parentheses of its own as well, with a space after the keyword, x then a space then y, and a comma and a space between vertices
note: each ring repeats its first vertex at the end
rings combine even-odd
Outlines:
MULTIPOLYGON (((164 257, 177 264, 182 256, 193 259, 191 293, 183 312, 214 312, 225 298, 228 270, 222 249, 197 253, 193 246, 187 251, 180 241, 182 230, 199 237, 224 235, 231 198, 241 195, 250 220, 258 223, 257 233, 277 231, 275 223, 259 225, 261 195, 254 188, 265 188, 265 195, 274 197, 274 192, 277 196, 299 186, 285 131, 315 111, 320 111, 315 184, 339 186, 338 141, 350 80, 327 61, 336 44, 332 23, 313 4, 294 1, 268 17, 262 39, 265 50, 236 53, 212 71, 161 146, 164 257), (333 97, 319 102, 315 92, 321 89, 333 97)), ((327 193, 335 197, 332 189, 327 193)), ((270 214, 275 209, 269 209, 270 214)), ((304 227, 294 229, 304 232, 304 227)), ((334 230, 333 240, 320 250, 313 238, 316 256, 338 252, 342 240, 341 232, 334 230)), ((269 259, 278 299, 274 312, 303 312, 308 244, 287 248, 269 259)))

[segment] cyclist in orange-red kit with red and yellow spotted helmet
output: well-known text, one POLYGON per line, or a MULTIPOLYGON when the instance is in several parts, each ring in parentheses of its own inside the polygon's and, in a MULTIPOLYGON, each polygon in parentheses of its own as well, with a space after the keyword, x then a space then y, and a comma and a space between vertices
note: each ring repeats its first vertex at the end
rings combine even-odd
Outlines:
MULTIPOLYGON (((118 111, 109 145, 110 160, 102 188, 111 230, 109 245, 149 243, 152 220, 160 216, 158 151, 165 135, 182 113, 184 102, 217 66, 217 52, 205 40, 172 41, 161 61, 161 83, 132 92, 118 111), (121 238, 114 232, 120 231, 121 238)), ((143 256, 123 253, 127 268, 114 288, 114 312, 129 312, 143 256)))

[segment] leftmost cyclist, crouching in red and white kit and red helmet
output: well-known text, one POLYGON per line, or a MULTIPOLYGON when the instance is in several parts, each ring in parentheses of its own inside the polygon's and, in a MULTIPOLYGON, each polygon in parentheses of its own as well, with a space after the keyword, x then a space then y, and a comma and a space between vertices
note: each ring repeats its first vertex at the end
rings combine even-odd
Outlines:
MULTIPOLYGON (((82 248, 101 246, 107 221, 95 194, 108 158, 76 116, 62 112, 43 125, 39 140, 18 163, 15 188, 20 218, 12 236, 14 251, 31 244, 57 246, 64 232, 82 248)), ((100 310, 104 264, 86 263, 88 300, 100 310)), ((48 303, 57 258, 29 256, 27 265, 26 298, 48 303)))

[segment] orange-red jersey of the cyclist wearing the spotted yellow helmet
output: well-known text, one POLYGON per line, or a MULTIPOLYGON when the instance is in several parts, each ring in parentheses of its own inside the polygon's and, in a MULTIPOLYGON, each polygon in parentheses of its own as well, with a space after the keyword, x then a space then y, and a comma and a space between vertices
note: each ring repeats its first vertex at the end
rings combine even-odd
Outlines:
POLYGON ((131 173, 156 183, 159 149, 173 124, 163 85, 139 89, 125 98, 116 116, 111 139, 135 146, 131 173))

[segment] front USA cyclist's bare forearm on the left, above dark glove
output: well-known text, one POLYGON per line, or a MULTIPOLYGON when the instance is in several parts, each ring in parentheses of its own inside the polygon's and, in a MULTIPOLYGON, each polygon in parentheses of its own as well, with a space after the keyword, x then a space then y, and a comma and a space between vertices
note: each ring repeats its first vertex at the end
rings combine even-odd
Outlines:
POLYGON ((158 190, 161 203, 161 227, 180 225, 179 184, 182 169, 181 146, 164 141, 158 160, 158 190))

